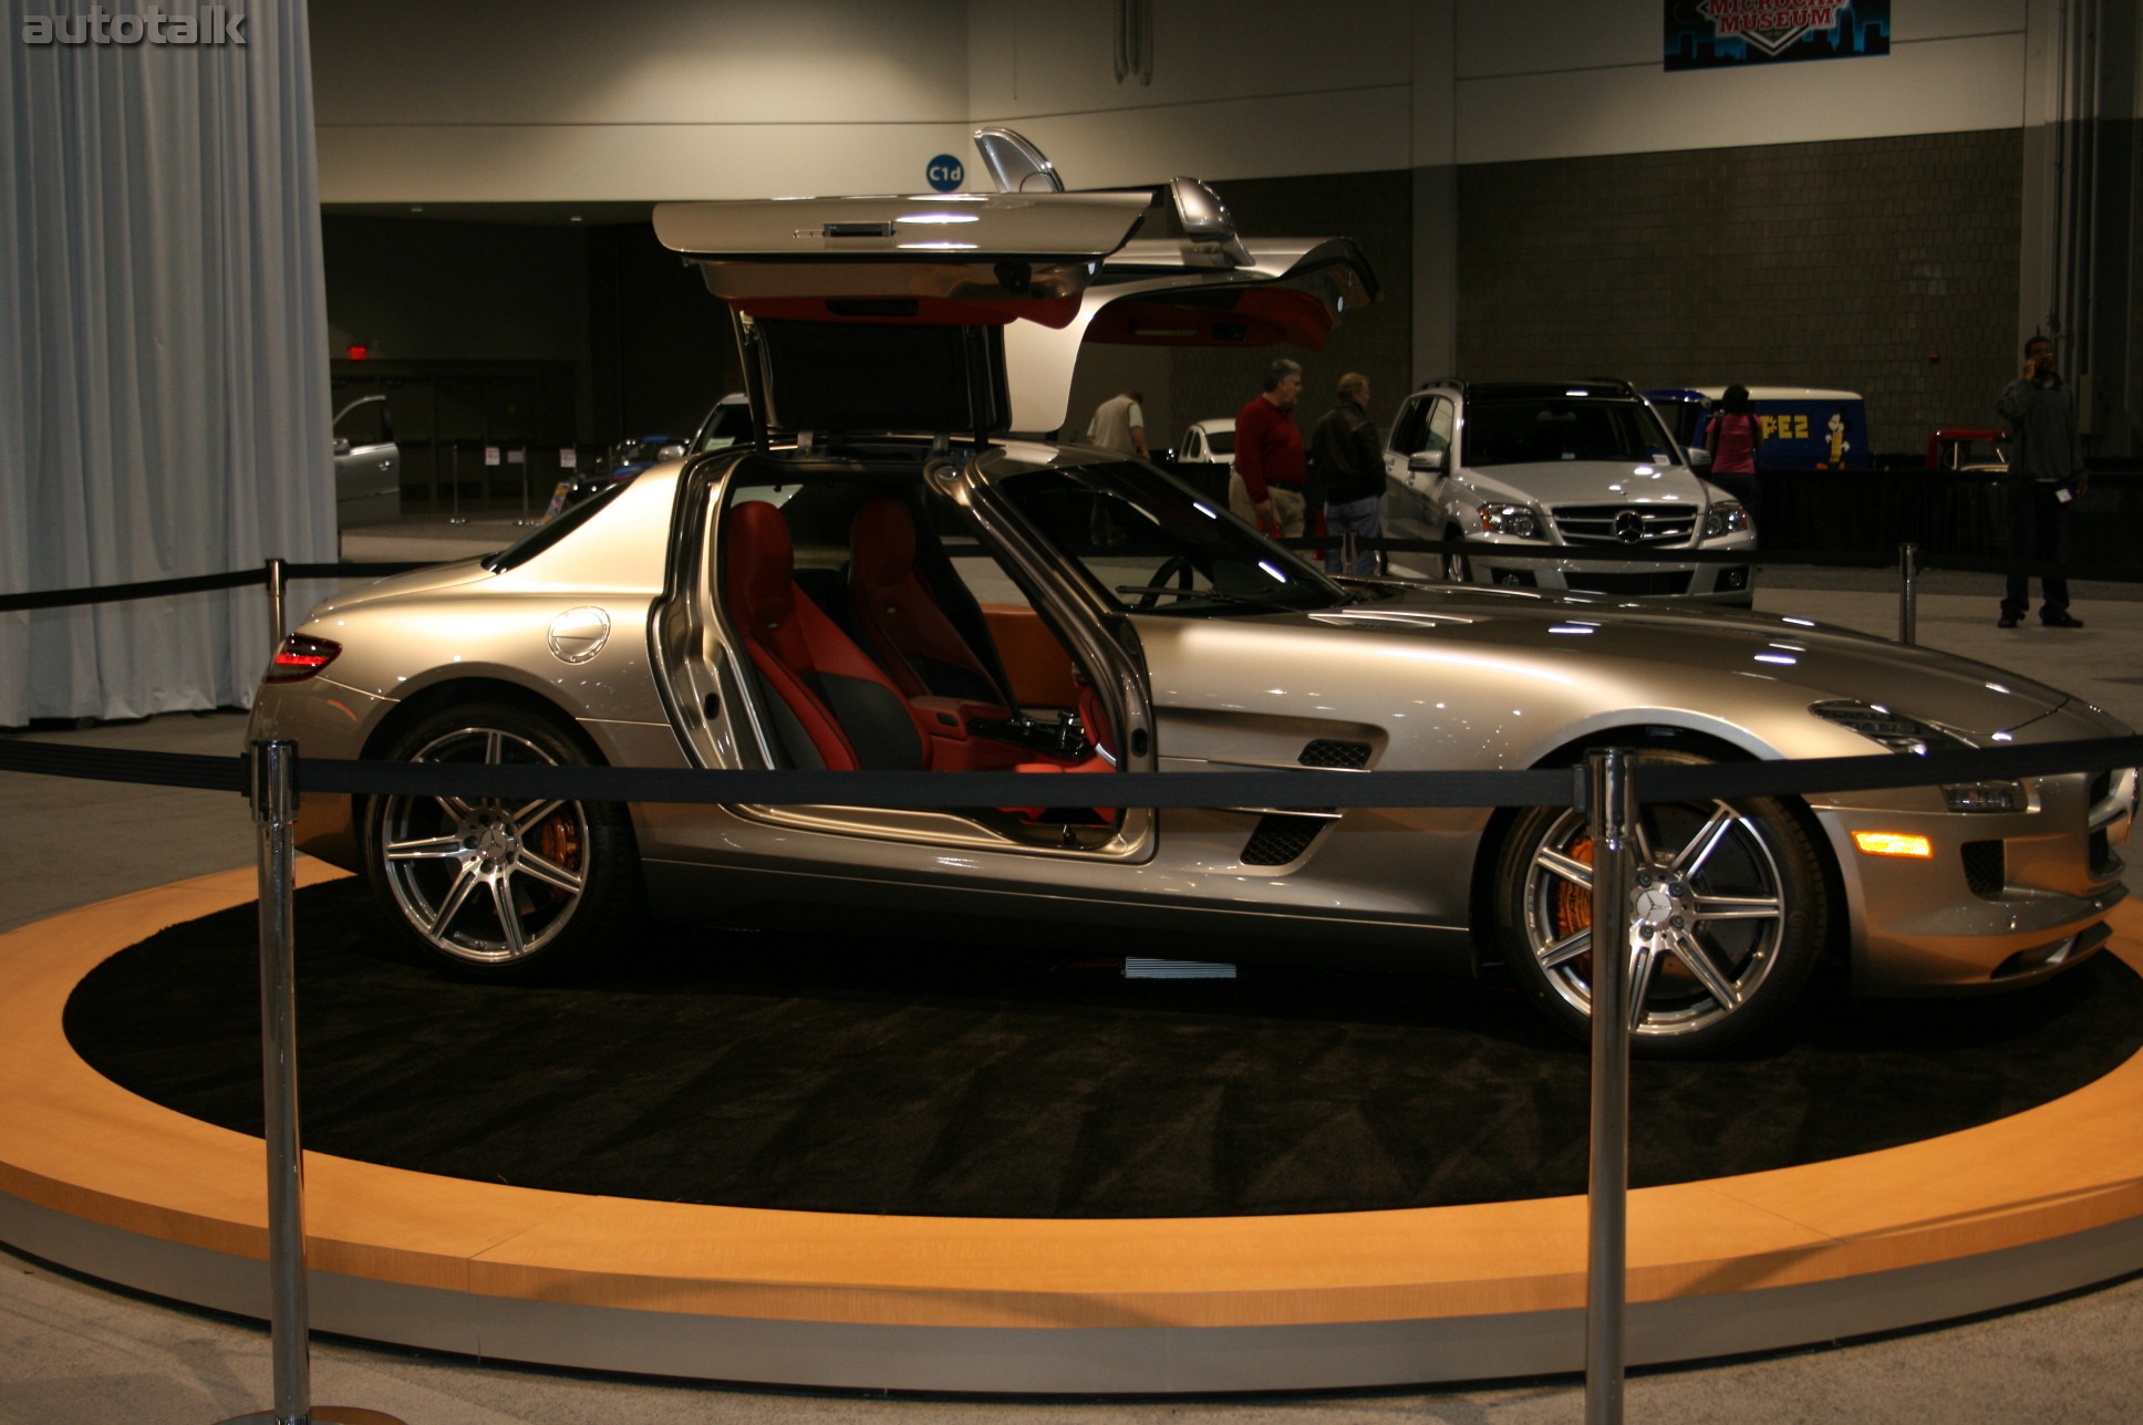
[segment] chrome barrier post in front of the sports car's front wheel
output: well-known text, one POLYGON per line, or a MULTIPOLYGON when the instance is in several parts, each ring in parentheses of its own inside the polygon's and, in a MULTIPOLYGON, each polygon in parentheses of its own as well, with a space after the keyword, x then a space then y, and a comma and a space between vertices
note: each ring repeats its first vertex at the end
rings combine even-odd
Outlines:
POLYGON ((1586 1425, 1622 1425, 1629 1245, 1631 756, 1586 752, 1592 819, 1592 1174, 1586 1187, 1586 1425))

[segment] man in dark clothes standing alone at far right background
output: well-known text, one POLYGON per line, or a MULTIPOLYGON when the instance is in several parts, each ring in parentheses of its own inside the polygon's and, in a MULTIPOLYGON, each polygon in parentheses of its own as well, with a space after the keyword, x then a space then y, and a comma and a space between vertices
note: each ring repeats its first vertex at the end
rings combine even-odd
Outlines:
MULTIPOLYGON (((2053 343, 2034 336, 2023 343, 2023 375, 1995 396, 1995 411, 2014 431, 2008 465, 2010 559, 2068 561, 2068 506, 2083 489, 2083 444, 2077 439, 2077 399, 2053 369, 2053 343)), ((2068 579, 2044 574, 2047 602, 2038 621, 2047 628, 2083 628, 2068 613, 2068 579)), ((2032 581, 2008 576, 2002 598, 2002 628, 2017 628, 2032 606, 2032 581)))

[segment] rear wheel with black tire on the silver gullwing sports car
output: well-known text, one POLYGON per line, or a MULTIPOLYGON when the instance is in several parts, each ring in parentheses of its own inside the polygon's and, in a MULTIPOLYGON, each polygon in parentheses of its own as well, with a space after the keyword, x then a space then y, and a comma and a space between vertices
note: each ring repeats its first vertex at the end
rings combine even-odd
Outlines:
MULTIPOLYGON (((591 763, 553 718, 448 707, 394 739, 405 763, 591 763)), ((375 797, 364 872, 433 962, 482 979, 553 979, 626 941, 639 913, 632 823, 606 801, 375 797)))

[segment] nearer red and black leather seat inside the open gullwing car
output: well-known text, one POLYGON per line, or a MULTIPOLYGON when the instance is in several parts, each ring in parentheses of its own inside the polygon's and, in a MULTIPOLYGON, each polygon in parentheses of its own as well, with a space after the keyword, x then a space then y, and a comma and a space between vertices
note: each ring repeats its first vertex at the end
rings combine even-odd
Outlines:
POLYGON ((765 501, 722 527, 729 617, 759 675, 789 761, 834 771, 921 769, 930 737, 906 696, 797 587, 789 521, 765 501))

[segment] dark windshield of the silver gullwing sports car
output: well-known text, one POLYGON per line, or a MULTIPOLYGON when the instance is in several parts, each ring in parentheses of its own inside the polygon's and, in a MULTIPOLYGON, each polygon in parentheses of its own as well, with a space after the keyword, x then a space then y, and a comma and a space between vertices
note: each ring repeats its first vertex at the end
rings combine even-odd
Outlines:
POLYGON ((1147 465, 1033 469, 992 489, 1121 609, 1213 617, 1346 602, 1324 574, 1147 465))

